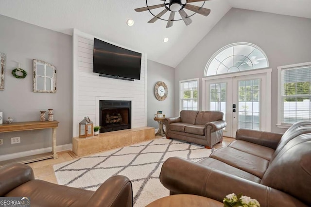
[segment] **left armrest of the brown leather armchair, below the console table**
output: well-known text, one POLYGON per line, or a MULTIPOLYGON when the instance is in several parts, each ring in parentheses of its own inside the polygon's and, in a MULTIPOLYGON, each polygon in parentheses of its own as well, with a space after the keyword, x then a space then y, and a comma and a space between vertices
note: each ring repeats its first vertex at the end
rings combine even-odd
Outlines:
POLYGON ((34 179, 33 169, 25 164, 12 164, 0 168, 0 196, 5 196, 21 184, 34 179))

